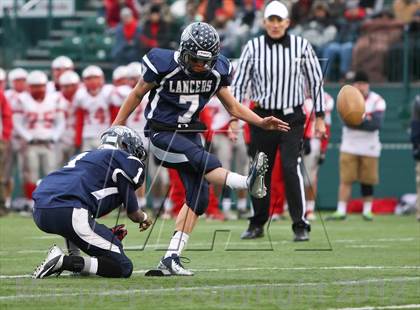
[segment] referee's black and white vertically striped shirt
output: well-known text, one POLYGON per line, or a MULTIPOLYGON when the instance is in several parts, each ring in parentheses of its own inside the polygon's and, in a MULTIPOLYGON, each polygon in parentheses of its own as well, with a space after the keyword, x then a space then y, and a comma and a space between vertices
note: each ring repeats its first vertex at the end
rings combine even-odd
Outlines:
POLYGON ((322 115, 322 85, 321 66, 306 39, 287 34, 280 42, 270 42, 261 35, 242 51, 232 90, 240 102, 247 96, 262 109, 283 111, 303 105, 308 93, 316 114, 322 115))

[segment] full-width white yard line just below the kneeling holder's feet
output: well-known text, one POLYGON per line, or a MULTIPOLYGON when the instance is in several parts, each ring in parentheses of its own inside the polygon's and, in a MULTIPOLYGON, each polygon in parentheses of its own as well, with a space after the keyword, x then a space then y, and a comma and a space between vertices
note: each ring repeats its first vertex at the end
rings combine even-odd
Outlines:
POLYGON ((91 290, 79 291, 73 293, 57 293, 57 294, 20 294, 20 295, 4 295, 0 296, 1 300, 16 300, 16 299, 39 299, 47 297, 72 297, 72 296, 125 296, 133 294, 162 294, 174 292, 192 292, 203 290, 238 290, 247 288, 273 288, 273 287, 306 287, 319 285, 359 285, 368 283, 383 283, 383 282, 412 282, 419 281, 420 277, 398 277, 398 278, 372 278, 366 280, 351 280, 351 281, 333 281, 333 282, 308 282, 308 283, 257 283, 257 284, 240 284, 240 285, 214 285, 214 286, 192 286, 192 287, 171 287, 171 288, 157 288, 157 289, 131 289, 131 290, 100 290, 93 292, 91 290))

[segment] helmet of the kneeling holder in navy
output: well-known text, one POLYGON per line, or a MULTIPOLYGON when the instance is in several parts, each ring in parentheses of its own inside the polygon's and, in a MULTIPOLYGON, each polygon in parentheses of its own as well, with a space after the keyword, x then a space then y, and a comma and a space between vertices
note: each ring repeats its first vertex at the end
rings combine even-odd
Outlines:
POLYGON ((101 135, 101 147, 111 145, 126 151, 141 161, 147 157, 140 135, 127 126, 112 126, 101 135))

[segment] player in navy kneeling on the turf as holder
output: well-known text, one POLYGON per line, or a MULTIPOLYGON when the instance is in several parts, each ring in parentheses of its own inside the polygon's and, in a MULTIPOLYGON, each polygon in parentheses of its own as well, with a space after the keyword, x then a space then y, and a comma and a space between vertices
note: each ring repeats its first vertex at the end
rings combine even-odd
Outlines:
POLYGON ((121 240, 124 225, 109 229, 99 218, 123 204, 140 231, 151 225, 137 204, 135 191, 144 181, 146 151, 140 136, 125 126, 114 126, 101 137, 98 149, 75 156, 45 177, 33 194, 34 221, 44 232, 61 235, 89 256, 68 256, 54 245, 33 273, 34 278, 63 270, 128 278, 133 264, 121 240))

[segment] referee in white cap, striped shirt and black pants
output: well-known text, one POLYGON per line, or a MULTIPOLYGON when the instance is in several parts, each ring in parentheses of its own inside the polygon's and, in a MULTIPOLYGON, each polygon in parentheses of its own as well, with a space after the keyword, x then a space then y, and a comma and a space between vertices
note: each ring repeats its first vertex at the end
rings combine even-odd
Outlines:
MULTIPOLYGON (((270 2, 264 11, 265 34, 246 44, 233 80, 235 97, 242 101, 245 94, 254 102, 254 112, 261 117, 273 115, 289 123, 288 132, 269 132, 251 126, 250 152, 265 152, 269 167, 280 148, 289 213, 293 220, 294 241, 309 240, 310 225, 305 219, 305 192, 300 172, 301 145, 305 114, 302 111, 305 94, 312 97, 316 114, 315 134, 325 135, 324 92, 322 72, 312 46, 302 37, 287 34, 290 25, 287 7, 270 2)), ((237 124, 231 122, 231 129, 237 124)), ((265 175, 268 194, 252 199, 254 216, 242 239, 264 235, 269 218, 271 173, 265 175)))

